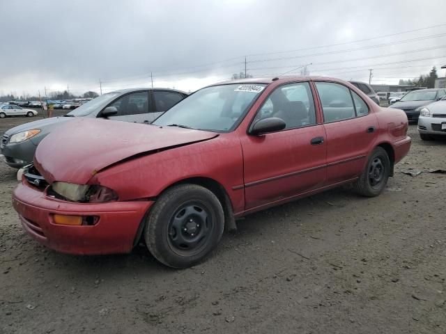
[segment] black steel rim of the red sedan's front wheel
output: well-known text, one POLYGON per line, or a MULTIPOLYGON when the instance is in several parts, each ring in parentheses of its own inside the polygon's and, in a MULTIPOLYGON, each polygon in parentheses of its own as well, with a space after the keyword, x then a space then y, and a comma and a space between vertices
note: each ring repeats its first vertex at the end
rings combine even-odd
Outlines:
POLYGON ((197 254, 208 244, 213 227, 212 215, 204 203, 186 202, 176 209, 169 220, 169 244, 180 255, 197 254))

